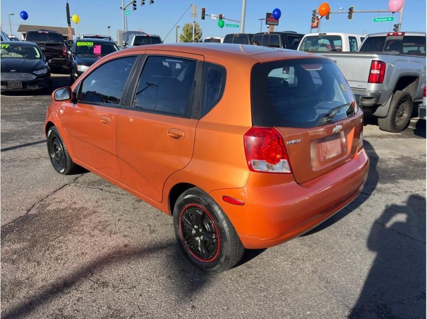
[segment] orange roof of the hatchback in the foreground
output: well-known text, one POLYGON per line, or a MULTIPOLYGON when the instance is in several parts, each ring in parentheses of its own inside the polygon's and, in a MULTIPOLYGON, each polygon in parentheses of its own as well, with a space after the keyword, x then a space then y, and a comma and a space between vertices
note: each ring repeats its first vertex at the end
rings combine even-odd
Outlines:
POLYGON ((229 44, 229 43, 180 43, 180 44, 149 44, 144 46, 134 46, 120 50, 111 55, 145 51, 168 51, 168 52, 181 52, 204 55, 205 57, 218 57, 222 59, 230 59, 241 61, 243 59, 252 61, 252 64, 266 61, 281 60, 287 58, 325 58, 322 55, 313 54, 312 52, 295 51, 289 49, 272 48, 268 46, 254 46, 249 44, 229 44))

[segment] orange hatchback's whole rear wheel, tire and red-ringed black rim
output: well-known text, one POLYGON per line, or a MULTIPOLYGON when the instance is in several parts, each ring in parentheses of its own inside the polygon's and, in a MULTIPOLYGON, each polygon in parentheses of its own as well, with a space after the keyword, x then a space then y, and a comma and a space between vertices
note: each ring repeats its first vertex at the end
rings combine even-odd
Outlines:
POLYGON ((234 267, 245 251, 227 215, 198 187, 184 191, 176 200, 173 226, 184 255, 205 273, 220 273, 234 267))

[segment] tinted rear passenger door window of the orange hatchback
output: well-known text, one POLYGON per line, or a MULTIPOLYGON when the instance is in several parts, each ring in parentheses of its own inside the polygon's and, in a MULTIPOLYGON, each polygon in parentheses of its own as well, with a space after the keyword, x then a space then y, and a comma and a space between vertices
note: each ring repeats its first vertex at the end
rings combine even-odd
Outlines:
POLYGON ((134 107, 190 116, 196 61, 151 56, 135 93, 134 107))

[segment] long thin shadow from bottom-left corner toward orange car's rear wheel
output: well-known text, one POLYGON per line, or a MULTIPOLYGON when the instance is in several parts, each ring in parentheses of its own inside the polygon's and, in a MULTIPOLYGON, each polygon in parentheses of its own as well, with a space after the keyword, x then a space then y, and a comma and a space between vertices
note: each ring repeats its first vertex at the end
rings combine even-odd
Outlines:
MULTIPOLYGON (((50 302, 52 299, 56 298, 58 295, 64 292, 64 290, 72 287, 73 285, 79 283, 88 276, 91 276, 94 272, 101 269, 102 267, 122 263, 123 261, 129 260, 131 258, 144 258, 146 256, 158 253, 164 249, 170 248, 173 244, 171 243, 162 243, 152 245, 151 247, 141 247, 135 249, 117 249, 116 251, 111 252, 108 255, 99 257, 87 264, 85 267, 80 268, 77 271, 69 273, 68 275, 57 280, 53 284, 48 285, 44 290, 41 290, 39 293, 28 296, 29 301, 21 303, 20 305, 14 307, 12 310, 4 313, 2 309, 1 318, 17 318, 28 316, 33 310, 38 307, 45 305, 50 302)), ((184 258, 184 256, 182 256, 184 258)))

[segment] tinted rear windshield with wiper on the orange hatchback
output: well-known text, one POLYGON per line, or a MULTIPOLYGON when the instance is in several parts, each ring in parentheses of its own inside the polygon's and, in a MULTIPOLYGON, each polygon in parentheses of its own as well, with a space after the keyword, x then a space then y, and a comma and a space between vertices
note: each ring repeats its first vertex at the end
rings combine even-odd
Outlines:
POLYGON ((327 59, 257 64, 251 83, 256 126, 313 128, 354 115, 353 93, 327 59))

